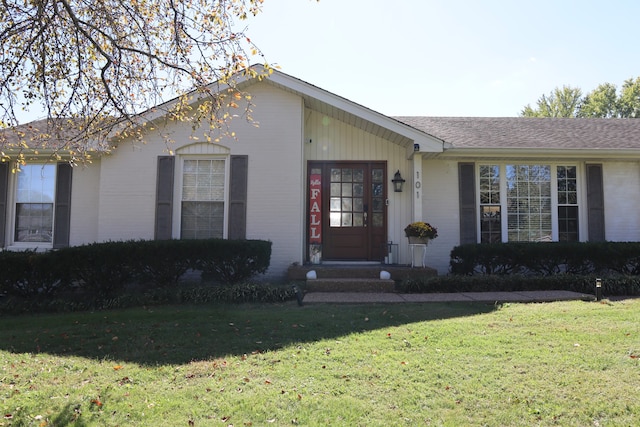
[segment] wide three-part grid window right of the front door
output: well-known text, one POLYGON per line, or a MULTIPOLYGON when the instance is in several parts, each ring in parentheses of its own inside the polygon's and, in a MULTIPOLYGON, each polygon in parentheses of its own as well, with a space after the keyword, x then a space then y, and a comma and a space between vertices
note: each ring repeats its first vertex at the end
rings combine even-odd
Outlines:
POLYGON ((480 165, 478 173, 480 242, 579 240, 576 166, 480 165))

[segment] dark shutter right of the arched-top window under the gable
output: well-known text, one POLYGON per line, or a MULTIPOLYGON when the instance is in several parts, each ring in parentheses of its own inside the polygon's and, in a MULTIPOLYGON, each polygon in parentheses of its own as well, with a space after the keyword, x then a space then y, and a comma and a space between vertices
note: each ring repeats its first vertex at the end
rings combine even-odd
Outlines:
POLYGON ((247 238, 247 179, 249 158, 231 156, 229 184, 229 239, 247 238))

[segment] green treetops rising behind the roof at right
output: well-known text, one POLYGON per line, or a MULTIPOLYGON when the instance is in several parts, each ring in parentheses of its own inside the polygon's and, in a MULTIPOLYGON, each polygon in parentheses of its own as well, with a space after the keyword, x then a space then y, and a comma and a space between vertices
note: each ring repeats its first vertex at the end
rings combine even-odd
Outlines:
POLYGON ((549 96, 542 95, 536 108, 530 105, 522 117, 640 118, 640 77, 625 80, 620 92, 615 85, 603 83, 584 97, 579 88, 563 86, 549 96))

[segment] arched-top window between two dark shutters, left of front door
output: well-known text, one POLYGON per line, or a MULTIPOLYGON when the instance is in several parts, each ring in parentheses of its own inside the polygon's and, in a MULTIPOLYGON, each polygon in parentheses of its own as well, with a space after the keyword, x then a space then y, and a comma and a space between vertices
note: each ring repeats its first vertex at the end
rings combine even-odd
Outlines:
POLYGON ((224 199, 224 160, 184 160, 181 238, 223 238, 224 199))

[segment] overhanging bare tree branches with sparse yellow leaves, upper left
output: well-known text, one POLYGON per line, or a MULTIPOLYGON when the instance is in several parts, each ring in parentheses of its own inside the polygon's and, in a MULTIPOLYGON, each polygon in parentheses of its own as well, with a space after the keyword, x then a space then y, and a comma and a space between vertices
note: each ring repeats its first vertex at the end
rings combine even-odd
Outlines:
MULTIPOLYGON (((42 106, 46 131, 64 130, 58 148, 74 156, 88 138, 104 137, 116 123, 126 134, 136 114, 190 90, 203 99, 195 117, 219 127, 227 119, 222 109, 248 100, 233 76, 253 72, 250 58, 261 54, 238 25, 262 2, 3 0, 0 127, 16 126, 22 110, 42 106), (215 81, 230 89, 209 91, 215 81)), ((193 119, 187 104, 167 104, 168 117, 193 119)), ((24 135, 0 135, 4 157, 9 145, 28 145, 24 135)))

